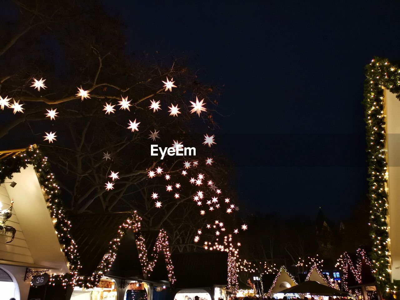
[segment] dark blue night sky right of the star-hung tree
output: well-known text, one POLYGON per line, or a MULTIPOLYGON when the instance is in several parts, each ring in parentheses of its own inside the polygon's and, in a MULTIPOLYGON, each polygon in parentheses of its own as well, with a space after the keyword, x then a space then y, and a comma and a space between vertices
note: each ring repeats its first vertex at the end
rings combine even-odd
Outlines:
MULTIPOLYGON (((116 1, 130 52, 225 84, 224 151, 249 212, 346 218, 366 198, 364 66, 400 60, 398 1, 116 1)), ((218 142, 218 140, 217 140, 218 142)))

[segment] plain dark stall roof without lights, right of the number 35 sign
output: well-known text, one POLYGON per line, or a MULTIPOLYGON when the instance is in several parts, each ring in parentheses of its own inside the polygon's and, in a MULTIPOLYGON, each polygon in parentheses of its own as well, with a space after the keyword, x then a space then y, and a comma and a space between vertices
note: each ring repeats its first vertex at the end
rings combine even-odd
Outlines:
POLYGON ((207 288, 228 284, 228 253, 222 251, 172 254, 176 288, 207 288))

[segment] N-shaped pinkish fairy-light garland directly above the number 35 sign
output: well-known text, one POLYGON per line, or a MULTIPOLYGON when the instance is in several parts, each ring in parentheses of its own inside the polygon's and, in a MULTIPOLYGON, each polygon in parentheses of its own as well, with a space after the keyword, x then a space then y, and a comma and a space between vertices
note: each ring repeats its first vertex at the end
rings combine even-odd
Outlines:
POLYGON ((136 246, 139 251, 139 260, 142 265, 144 278, 150 276, 154 270, 154 266, 156 265, 158 255, 160 252, 164 252, 169 282, 171 284, 175 283, 176 278, 174 276, 174 266, 172 265, 168 236, 164 230, 160 230, 160 233, 158 234, 150 259, 148 258, 146 243, 142 235, 136 238, 136 246))

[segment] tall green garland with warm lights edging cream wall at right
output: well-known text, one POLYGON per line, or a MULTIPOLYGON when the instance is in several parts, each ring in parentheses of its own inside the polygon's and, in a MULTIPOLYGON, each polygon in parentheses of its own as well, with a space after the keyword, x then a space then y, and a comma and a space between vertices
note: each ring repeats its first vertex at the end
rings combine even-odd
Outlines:
POLYGON ((370 234, 373 242, 371 259, 380 292, 393 292, 390 280, 390 252, 388 249, 388 195, 385 157, 384 90, 386 88, 399 98, 400 70, 386 58, 374 58, 366 66, 364 84, 364 105, 366 121, 366 141, 368 152, 368 197, 371 201, 370 234))

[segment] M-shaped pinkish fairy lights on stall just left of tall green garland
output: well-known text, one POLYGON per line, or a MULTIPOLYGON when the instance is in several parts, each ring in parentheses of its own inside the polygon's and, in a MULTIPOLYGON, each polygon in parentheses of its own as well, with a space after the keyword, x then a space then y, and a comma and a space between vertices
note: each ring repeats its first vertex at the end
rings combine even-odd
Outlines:
POLYGON ((357 249, 356 257, 356 265, 354 265, 348 253, 344 252, 340 255, 335 265, 336 268, 339 267, 339 270, 342 271, 342 287, 346 291, 348 291, 348 274, 350 272, 354 275, 358 284, 362 284, 362 264, 366 264, 370 267, 373 266, 363 249, 357 249))

